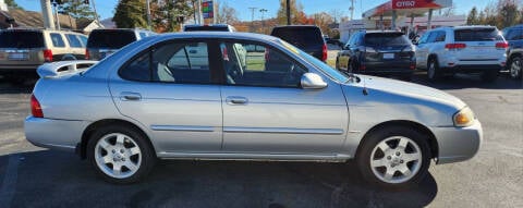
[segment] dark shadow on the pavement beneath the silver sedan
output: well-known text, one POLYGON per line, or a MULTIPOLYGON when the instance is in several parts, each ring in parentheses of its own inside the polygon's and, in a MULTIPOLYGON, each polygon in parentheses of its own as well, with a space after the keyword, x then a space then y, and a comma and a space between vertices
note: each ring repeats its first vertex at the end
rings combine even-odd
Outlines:
POLYGON ((424 207, 438 192, 430 174, 409 191, 372 188, 354 162, 166 160, 142 183, 113 185, 73 154, 0 157, 7 161, 16 167, 0 164, 0 201, 12 207, 424 207), (14 185, 3 184, 13 173, 14 185))

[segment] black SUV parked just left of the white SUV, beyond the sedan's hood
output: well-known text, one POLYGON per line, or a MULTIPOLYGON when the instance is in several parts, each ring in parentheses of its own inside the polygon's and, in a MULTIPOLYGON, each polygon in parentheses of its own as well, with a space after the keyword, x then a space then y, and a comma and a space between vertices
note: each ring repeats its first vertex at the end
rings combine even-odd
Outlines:
POLYGON ((416 66, 414 51, 414 45, 401 32, 356 32, 338 52, 336 66, 350 73, 411 79, 416 66))

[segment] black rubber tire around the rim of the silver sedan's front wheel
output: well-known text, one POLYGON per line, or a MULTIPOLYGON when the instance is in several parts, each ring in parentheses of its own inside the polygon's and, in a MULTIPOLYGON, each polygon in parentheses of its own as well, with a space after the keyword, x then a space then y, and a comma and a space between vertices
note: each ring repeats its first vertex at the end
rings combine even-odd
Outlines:
MULTIPOLYGON (((394 140, 391 140, 391 142, 394 142, 394 140)), ((396 148, 398 148, 398 146, 396 148)), ((396 151, 396 149, 392 148, 392 151, 396 151)), ((386 159, 385 156, 386 155, 384 155, 382 159, 386 159)), ((365 136, 365 138, 363 139, 363 144, 361 144, 356 154, 356 163, 358 166, 360 172, 362 173, 363 178, 370 184, 380 186, 384 188, 388 188, 388 189, 404 189, 404 188, 409 188, 417 185, 426 176, 428 172, 428 168, 430 166, 430 158, 431 156, 430 156, 430 147, 428 145, 428 137, 425 134, 412 127, 390 126, 390 127, 376 130, 369 133, 369 135, 365 136), (370 163, 373 150, 375 148, 378 148, 377 147, 378 144, 391 137, 410 138, 413 143, 417 145, 422 154, 421 162, 419 160, 414 161, 416 163, 410 163, 410 164, 409 162, 405 162, 405 166, 411 166, 411 167, 418 166, 418 168, 417 168, 417 172, 415 172, 413 176, 410 176, 408 181, 404 181, 401 183, 388 183, 382 181, 373 171, 374 168, 372 167, 372 163, 370 163)), ((387 159, 390 162, 392 161, 389 158, 387 159)), ((403 163, 403 160, 401 160, 401 163, 403 163)), ((387 166, 390 167, 391 164, 389 163, 387 166)), ((386 168, 386 167, 382 167, 382 168, 386 168)), ((396 175, 397 173, 401 174, 400 172, 394 171, 393 175, 396 175)))

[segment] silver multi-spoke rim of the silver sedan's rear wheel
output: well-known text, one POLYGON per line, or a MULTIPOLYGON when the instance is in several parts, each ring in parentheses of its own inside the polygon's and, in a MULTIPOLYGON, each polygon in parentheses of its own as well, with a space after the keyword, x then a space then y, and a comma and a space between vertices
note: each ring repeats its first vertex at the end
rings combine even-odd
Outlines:
POLYGON ((142 151, 132 137, 121 133, 111 133, 96 144, 95 160, 98 168, 107 175, 125 179, 132 176, 139 169, 142 151))

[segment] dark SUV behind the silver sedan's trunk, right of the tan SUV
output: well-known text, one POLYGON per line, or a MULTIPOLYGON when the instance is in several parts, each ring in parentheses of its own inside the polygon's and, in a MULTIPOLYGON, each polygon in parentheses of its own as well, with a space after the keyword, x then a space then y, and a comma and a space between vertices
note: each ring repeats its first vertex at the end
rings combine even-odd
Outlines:
POLYGON ((155 33, 138 28, 95 29, 87 39, 85 58, 101 60, 120 48, 151 35, 155 33))

